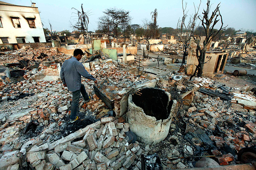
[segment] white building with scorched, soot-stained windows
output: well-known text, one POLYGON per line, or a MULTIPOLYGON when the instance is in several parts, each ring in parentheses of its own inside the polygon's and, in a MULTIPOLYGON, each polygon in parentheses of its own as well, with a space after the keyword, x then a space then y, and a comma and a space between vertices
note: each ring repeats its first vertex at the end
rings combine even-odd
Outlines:
POLYGON ((46 42, 35 3, 19 6, 0 1, 0 44, 46 42))

